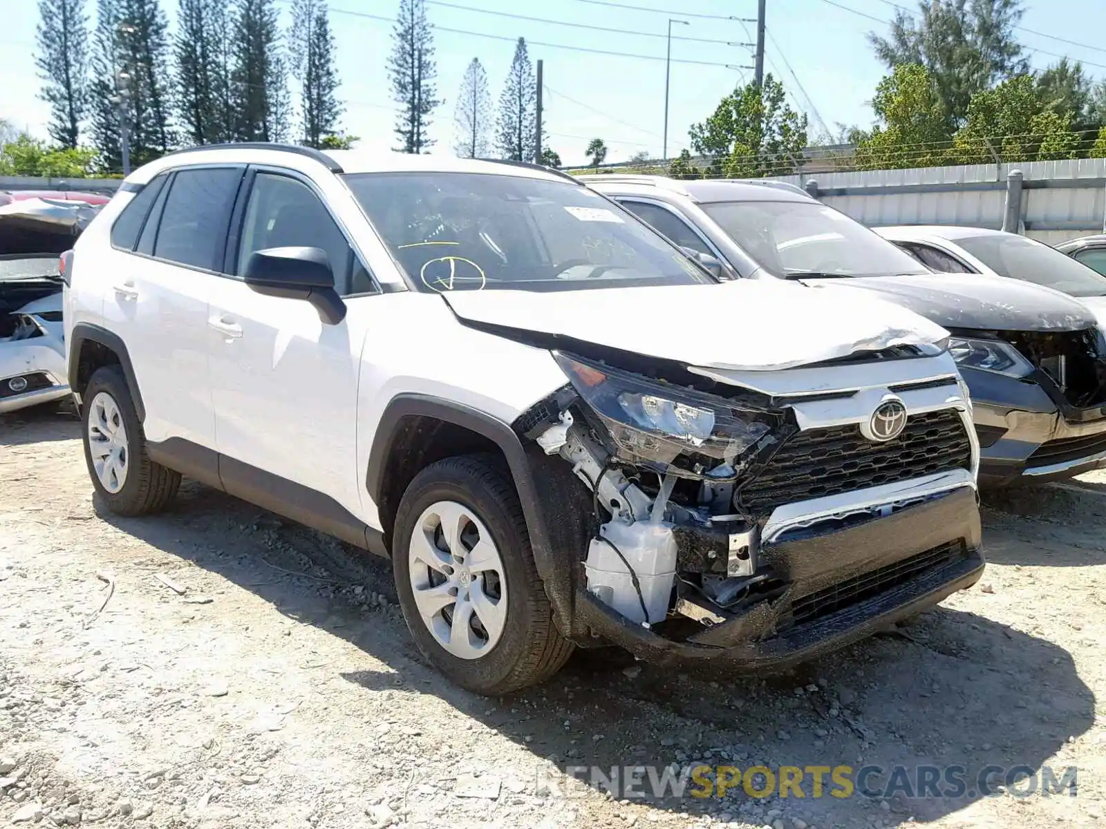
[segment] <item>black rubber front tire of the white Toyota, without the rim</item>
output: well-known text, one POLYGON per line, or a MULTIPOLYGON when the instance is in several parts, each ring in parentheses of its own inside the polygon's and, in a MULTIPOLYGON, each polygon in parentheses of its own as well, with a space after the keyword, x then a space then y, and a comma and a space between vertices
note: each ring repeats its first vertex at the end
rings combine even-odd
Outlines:
POLYGON ((461 688, 486 695, 518 691, 547 680, 572 654, 572 643, 553 623, 519 496, 494 455, 447 458, 415 476, 396 513, 392 559, 399 606, 411 637, 427 659, 461 688), (471 510, 491 533, 503 560, 505 627, 491 651, 479 659, 449 653, 427 630, 415 605, 407 558, 410 538, 419 516, 438 501, 456 501, 471 510))

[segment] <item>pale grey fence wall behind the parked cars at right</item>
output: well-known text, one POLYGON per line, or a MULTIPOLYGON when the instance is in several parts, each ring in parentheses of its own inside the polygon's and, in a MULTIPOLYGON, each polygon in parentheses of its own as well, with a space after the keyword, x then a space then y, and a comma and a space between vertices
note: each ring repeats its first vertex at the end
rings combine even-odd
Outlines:
POLYGON ((1021 170, 1022 231, 1056 244, 1106 230, 1106 158, 782 176, 865 224, 1002 227, 1006 176, 1021 170))

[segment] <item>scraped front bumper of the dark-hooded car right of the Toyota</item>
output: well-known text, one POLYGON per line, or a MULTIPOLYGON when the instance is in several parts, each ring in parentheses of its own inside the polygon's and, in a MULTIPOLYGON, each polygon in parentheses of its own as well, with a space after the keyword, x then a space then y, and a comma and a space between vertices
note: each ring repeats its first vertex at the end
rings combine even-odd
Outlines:
POLYGON ((1067 418, 1034 382, 963 371, 980 441, 981 487, 1044 483, 1106 468, 1106 409, 1067 418))

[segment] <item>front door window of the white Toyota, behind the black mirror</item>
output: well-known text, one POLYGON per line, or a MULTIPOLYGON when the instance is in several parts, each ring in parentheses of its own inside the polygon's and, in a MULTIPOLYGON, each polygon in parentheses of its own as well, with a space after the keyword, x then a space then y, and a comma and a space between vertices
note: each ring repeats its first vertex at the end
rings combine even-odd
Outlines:
POLYGON ((242 273, 251 253, 267 248, 322 248, 340 294, 375 290, 368 272, 315 192, 289 176, 259 172, 246 206, 236 272, 242 273))

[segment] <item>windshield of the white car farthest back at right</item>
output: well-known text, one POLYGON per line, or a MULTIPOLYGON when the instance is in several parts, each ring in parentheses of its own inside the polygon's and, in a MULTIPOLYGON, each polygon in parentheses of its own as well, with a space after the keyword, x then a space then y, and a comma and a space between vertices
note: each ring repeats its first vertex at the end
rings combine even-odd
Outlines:
POLYGON ((1001 276, 1035 282, 1072 296, 1106 296, 1106 276, 1033 239, 994 233, 954 241, 1001 276))

